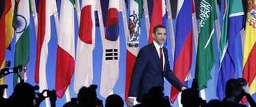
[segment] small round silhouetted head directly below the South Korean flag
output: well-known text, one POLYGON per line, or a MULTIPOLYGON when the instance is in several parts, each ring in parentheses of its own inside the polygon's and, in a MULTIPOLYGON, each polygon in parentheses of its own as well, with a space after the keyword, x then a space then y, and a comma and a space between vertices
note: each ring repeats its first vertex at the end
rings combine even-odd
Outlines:
POLYGON ((123 107, 124 101, 119 95, 113 94, 106 97, 105 107, 123 107))

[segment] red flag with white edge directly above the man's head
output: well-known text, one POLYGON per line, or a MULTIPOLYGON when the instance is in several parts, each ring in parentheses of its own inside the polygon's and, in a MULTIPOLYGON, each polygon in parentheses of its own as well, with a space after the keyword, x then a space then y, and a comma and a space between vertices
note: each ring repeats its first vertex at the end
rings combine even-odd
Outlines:
POLYGON ((156 25, 162 25, 163 16, 165 16, 166 8, 165 8, 165 0, 154 0, 154 4, 152 7, 151 21, 150 21, 150 34, 148 43, 153 42, 153 29, 156 25))

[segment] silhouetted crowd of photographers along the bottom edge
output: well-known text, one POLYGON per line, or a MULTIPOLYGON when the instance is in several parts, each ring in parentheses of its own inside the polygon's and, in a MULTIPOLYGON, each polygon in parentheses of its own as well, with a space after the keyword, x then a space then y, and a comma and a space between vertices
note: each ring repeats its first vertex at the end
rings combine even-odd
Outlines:
MULTIPOLYGON (((20 82, 14 88, 10 97, 4 98, 3 93, 7 85, 0 85, 0 106, 1 107, 39 107, 40 103, 49 97, 51 107, 56 106, 55 90, 44 90, 42 93, 35 93, 37 86, 29 85, 27 82, 20 82)), ((97 86, 82 87, 76 98, 63 105, 63 107, 103 107, 102 100, 99 100, 96 93, 97 86)), ((154 87, 143 95, 141 103, 133 107, 171 107, 169 97, 163 93, 163 87, 154 87)), ((246 107, 241 100, 246 98, 251 107, 256 107, 253 97, 248 93, 248 83, 244 78, 230 79, 226 82, 225 98, 221 100, 210 100, 206 102, 199 97, 197 81, 193 81, 191 88, 182 91, 181 103, 183 107, 246 107)), ((124 107, 124 100, 119 95, 113 94, 106 98, 105 107, 124 107)))

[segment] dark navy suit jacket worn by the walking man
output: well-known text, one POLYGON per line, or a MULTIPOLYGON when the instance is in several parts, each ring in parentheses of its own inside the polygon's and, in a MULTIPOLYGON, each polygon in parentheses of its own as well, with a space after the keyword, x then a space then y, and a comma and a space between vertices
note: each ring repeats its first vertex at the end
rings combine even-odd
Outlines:
POLYGON ((141 102, 141 97, 152 87, 163 87, 164 77, 171 82, 176 89, 180 90, 184 85, 178 80, 170 70, 167 48, 163 47, 165 55, 164 71, 160 70, 160 58, 154 44, 148 44, 139 50, 136 62, 133 67, 130 82, 129 97, 137 97, 141 102))

